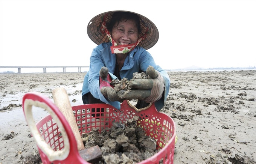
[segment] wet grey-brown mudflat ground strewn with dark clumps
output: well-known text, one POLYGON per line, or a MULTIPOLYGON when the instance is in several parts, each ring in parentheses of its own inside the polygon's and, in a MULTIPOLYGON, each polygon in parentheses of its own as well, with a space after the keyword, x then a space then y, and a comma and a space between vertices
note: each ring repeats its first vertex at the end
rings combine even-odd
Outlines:
MULTIPOLYGON (((161 112, 175 121, 174 163, 255 164, 256 71, 168 74, 171 87, 161 112)), ((70 104, 81 105, 84 75, 0 74, 0 164, 38 161, 37 146, 22 111, 23 95, 40 92, 52 100, 52 90, 64 87, 70 104)), ((35 109, 35 122, 46 115, 35 109)))

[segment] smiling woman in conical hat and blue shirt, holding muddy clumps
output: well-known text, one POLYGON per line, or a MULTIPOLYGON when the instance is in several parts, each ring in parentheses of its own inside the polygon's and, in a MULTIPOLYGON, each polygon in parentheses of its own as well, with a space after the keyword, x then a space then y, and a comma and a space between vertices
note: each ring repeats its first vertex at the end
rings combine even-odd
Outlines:
POLYGON ((146 51, 158 41, 157 27, 134 12, 110 11, 94 17, 87 26, 87 33, 98 46, 93 49, 90 69, 84 78, 84 104, 107 103, 120 109, 121 99, 136 98, 137 108, 155 102, 160 111, 168 96, 170 79, 146 51), (156 77, 150 74, 152 68, 156 77), (141 83, 131 80, 134 72, 146 72, 151 76, 141 83), (123 78, 131 80, 132 91, 114 92, 110 81, 123 78))

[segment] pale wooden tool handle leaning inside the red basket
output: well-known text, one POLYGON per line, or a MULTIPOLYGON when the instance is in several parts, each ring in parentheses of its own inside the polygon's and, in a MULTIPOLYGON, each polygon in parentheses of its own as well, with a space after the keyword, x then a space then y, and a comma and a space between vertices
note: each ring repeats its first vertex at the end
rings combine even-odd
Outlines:
POLYGON ((64 88, 56 88, 52 91, 52 96, 54 104, 59 108, 61 113, 66 118, 67 122, 69 122, 69 125, 76 138, 78 150, 84 149, 84 143, 82 142, 82 138, 78 130, 78 126, 69 101, 69 96, 67 95, 67 91, 64 88))

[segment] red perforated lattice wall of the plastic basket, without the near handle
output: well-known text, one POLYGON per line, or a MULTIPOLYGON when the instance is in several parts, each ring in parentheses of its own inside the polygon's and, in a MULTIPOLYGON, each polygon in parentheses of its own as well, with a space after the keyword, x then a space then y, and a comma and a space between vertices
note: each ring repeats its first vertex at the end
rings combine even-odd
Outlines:
MULTIPOLYGON (((157 141, 158 153, 148 159, 140 162, 140 164, 172 164, 174 160, 174 144, 175 144, 175 124, 171 117, 166 114, 157 112, 152 104, 146 110, 137 111, 129 102, 124 101, 121 104, 121 110, 117 110, 108 104, 87 104, 72 107, 73 113, 78 125, 79 132, 90 132, 94 128, 107 131, 111 128, 113 122, 122 122, 139 116, 137 126, 144 129, 145 134, 157 141), (95 109, 95 113, 91 110, 95 109), (93 117, 96 114, 98 119, 93 117)), ((61 150, 64 142, 61 132, 52 117, 46 116, 36 124, 41 136, 52 147, 53 150, 61 150)), ((40 151, 40 156, 42 158, 40 151)))

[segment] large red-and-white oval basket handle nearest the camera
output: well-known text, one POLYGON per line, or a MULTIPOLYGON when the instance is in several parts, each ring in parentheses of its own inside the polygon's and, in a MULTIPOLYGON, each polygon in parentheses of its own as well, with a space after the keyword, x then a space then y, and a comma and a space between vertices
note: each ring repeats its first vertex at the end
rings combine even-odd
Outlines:
POLYGON ((30 128, 30 131, 35 138, 37 146, 48 157, 49 161, 64 160, 69 156, 70 153, 78 153, 75 136, 69 131, 65 131, 65 129, 70 129, 70 126, 55 104, 53 104, 46 96, 36 92, 26 93, 23 96, 22 103, 24 116, 30 128), (47 144, 46 141, 41 137, 40 132, 38 131, 37 126, 34 122, 34 117, 32 114, 33 105, 36 107, 44 108, 50 113, 52 118, 55 119, 58 128, 60 129, 62 134, 65 145, 64 149, 54 151, 52 147, 50 147, 49 144, 47 144))

